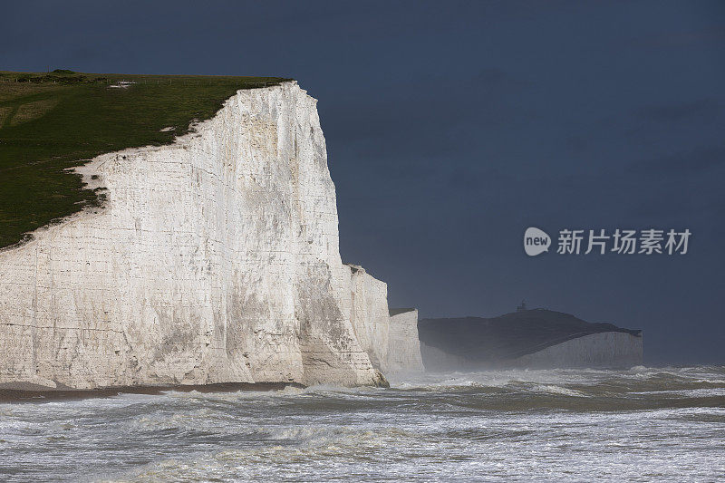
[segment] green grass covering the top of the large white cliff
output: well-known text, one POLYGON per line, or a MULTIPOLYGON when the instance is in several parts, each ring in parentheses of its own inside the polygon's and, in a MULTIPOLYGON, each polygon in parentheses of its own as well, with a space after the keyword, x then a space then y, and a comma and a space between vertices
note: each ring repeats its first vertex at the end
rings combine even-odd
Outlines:
POLYGON ((103 152, 168 144, 238 89, 278 77, 0 72, 0 247, 100 202, 68 168, 103 152), (127 89, 109 87, 135 81, 127 89), (175 129, 160 132, 162 128, 175 129))

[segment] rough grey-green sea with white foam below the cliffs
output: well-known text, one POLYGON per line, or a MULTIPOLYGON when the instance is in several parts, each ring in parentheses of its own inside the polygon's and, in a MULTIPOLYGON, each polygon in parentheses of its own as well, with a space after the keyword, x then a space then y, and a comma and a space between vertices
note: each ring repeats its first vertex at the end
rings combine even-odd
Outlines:
POLYGON ((725 367, 0 403, 0 481, 725 480, 725 367))

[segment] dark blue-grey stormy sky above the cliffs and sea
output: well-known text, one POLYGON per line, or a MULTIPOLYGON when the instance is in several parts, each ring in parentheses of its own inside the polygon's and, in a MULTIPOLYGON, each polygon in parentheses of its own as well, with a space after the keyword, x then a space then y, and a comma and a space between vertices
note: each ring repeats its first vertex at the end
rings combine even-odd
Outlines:
POLYGON ((343 260, 421 316, 522 298, 725 362, 725 2, 13 2, 0 69, 294 77, 343 260), (21 5, 22 4, 22 5, 21 5), (685 256, 525 255, 524 230, 689 228, 685 256))

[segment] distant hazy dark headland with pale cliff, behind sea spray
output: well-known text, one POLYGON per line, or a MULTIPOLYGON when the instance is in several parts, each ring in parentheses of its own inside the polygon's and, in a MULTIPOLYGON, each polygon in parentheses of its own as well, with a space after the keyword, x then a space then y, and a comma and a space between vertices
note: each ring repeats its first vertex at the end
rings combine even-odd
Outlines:
POLYGON ((632 367, 642 364, 642 331, 534 309, 493 318, 420 321, 426 371, 528 367, 632 367))

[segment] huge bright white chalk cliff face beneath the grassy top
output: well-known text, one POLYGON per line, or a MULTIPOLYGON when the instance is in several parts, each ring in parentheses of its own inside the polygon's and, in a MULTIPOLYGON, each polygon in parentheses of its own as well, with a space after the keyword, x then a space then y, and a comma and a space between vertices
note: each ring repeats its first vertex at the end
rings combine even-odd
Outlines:
POLYGON ((358 324, 382 302, 340 259, 326 156, 286 82, 93 159, 105 207, 0 252, 0 387, 382 382, 366 350, 384 360, 386 322, 358 324))

